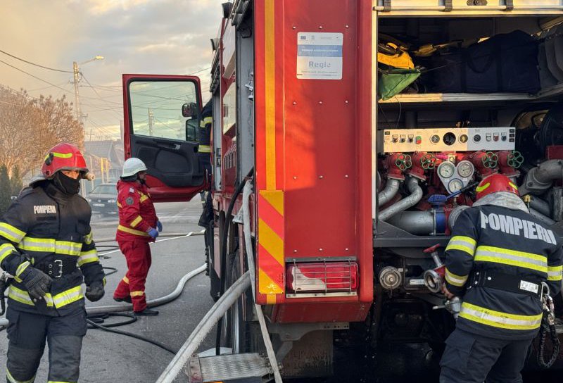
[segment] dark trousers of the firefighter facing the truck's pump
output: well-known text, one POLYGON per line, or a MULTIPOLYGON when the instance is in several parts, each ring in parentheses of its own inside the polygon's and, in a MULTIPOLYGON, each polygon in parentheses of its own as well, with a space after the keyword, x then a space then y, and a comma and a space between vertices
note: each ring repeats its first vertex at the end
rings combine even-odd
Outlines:
POLYGON ((440 383, 521 383, 532 341, 491 339, 455 329, 445 341, 440 383))

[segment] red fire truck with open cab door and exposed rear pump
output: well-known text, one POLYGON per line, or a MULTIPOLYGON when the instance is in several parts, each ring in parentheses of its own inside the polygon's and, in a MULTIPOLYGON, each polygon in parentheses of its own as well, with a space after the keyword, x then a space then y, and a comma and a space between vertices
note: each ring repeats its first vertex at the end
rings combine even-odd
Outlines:
POLYGON ((189 201, 212 189, 215 299, 247 268, 233 217, 240 185, 253 182, 255 296, 224 318, 222 346, 260 349, 254 299, 288 377, 331 373, 335 334, 352 327, 374 344, 439 348, 455 320, 433 310, 444 299, 429 271, 475 182, 493 172, 521 185, 531 213, 561 236, 559 1, 235 0, 222 10, 211 40, 211 185, 196 135, 207 89, 197 77, 123 75, 126 156, 146 163, 154 198, 189 201), (535 46, 537 89, 511 83, 530 71, 511 71, 519 63, 510 51, 466 65, 472 46, 514 31, 535 46), (419 79, 378 96, 382 77, 396 74, 381 61, 403 55, 415 58, 407 69, 419 79), (448 75, 465 83, 441 83, 448 75), (424 253, 436 244, 434 257, 424 253))

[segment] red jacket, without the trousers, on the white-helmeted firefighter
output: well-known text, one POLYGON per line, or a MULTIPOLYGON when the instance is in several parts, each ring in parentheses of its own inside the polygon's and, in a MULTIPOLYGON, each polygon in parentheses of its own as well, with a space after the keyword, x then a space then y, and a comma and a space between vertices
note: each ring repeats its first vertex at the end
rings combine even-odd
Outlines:
POLYGON ((156 227, 158 218, 151 194, 146 184, 137 181, 118 182, 119 226, 116 234, 118 241, 154 241, 148 230, 156 227))

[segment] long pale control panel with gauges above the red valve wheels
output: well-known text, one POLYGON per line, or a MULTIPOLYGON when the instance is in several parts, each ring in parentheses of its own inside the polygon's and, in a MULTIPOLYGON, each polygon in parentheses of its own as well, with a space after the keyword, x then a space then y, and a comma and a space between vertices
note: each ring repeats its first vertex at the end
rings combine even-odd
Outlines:
MULTIPOLYGON (((514 150, 514 127, 456 127, 380 130, 384 153, 412 151, 514 150)), ((381 142, 380 141, 380 142, 381 142)))

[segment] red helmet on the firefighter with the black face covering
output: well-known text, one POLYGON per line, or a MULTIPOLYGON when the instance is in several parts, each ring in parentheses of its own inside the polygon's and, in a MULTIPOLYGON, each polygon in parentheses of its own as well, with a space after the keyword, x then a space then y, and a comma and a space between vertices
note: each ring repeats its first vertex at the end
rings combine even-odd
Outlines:
POLYGON ((78 170, 82 177, 88 172, 84 156, 72 144, 62 142, 49 149, 41 167, 46 178, 51 178, 59 170, 78 170))

